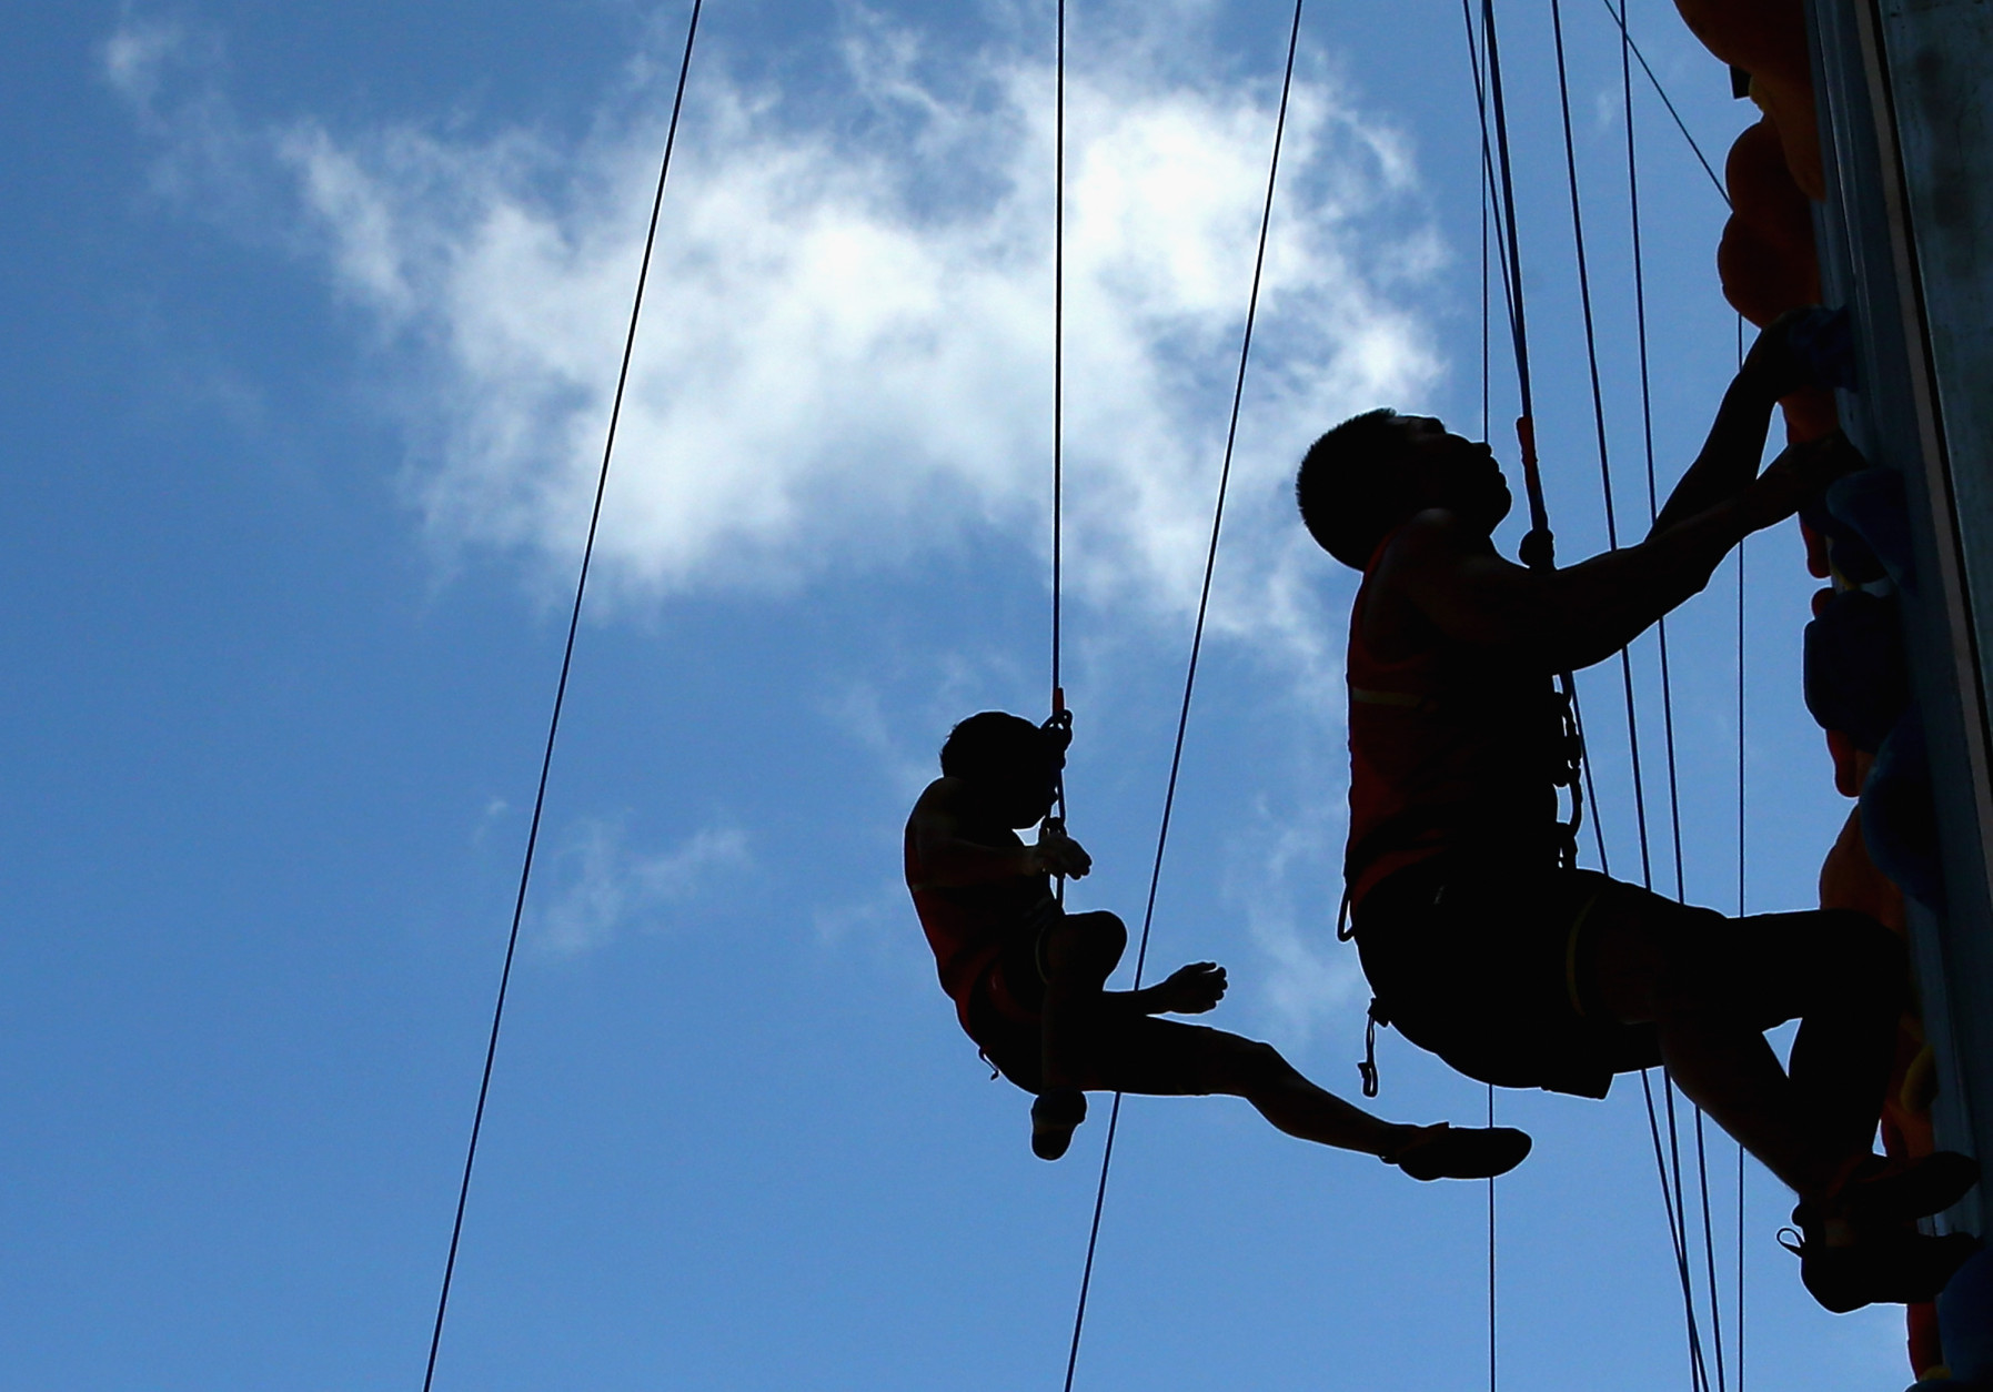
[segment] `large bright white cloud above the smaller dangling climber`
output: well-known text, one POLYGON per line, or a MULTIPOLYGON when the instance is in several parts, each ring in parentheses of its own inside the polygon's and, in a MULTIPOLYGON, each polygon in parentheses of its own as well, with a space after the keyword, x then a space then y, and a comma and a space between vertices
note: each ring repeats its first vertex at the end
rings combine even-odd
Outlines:
MULTIPOLYGON (((1204 8, 1152 18, 1068 86, 1070 578, 1082 601, 1136 617, 1196 601, 1278 98, 1158 64, 1158 34, 1204 8)), ((106 74, 161 139, 161 167, 213 175, 247 149, 287 179, 305 245, 407 384, 409 496, 430 538, 564 581, 676 64, 632 66, 636 90, 604 104, 596 133, 560 141, 257 129, 213 84, 175 98, 159 76, 175 48, 175 32, 128 24, 106 74)), ((941 80, 919 34, 855 14, 841 96, 801 110, 717 52, 696 64, 666 193, 598 550, 606 597, 779 593, 915 564, 965 530, 1042 550, 1048 70, 983 52, 941 80)), ((1405 141, 1335 80, 1303 80, 1220 631, 1325 651, 1287 476, 1325 422, 1433 386, 1431 339, 1399 299, 1437 261, 1405 141)))

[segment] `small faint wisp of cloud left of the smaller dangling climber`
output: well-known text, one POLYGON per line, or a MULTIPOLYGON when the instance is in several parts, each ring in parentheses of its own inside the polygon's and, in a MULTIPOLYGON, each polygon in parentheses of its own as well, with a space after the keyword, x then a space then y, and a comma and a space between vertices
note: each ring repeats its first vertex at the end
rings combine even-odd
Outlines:
POLYGON ((708 826, 662 854, 624 848, 624 828, 584 820, 552 856, 544 908, 534 912, 536 940, 554 956, 606 946, 628 926, 660 928, 666 908, 692 902, 708 882, 749 864, 747 836, 708 826))

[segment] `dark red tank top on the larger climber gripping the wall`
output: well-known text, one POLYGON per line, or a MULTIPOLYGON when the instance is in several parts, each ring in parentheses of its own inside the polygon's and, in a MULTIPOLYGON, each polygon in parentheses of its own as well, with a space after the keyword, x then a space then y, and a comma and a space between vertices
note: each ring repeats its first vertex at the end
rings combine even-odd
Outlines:
POLYGON ((1565 717, 1551 675, 1437 629, 1405 657, 1373 653, 1363 613, 1389 542, 1349 609, 1351 908, 1389 874, 1439 854, 1473 848, 1551 866, 1561 840, 1565 717))

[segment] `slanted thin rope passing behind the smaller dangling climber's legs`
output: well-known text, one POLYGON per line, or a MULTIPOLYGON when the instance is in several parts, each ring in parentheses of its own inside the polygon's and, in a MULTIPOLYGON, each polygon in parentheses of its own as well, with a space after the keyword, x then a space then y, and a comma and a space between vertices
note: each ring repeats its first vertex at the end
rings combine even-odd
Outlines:
MULTIPOLYGON (((1162 824, 1156 830, 1156 858, 1148 876, 1148 902, 1142 908, 1142 938, 1134 958, 1134 990, 1142 990, 1142 968, 1148 964, 1148 936, 1156 920, 1156 890, 1162 884, 1162 858, 1170 844, 1170 812, 1176 809, 1176 781, 1184 767, 1184 735, 1190 729, 1190 701, 1198 687, 1198 657, 1204 651, 1204 619, 1212 603, 1212 576, 1218 572, 1218 536, 1226 520, 1226 492, 1232 484, 1232 452, 1238 444, 1240 406, 1246 400, 1246 366, 1252 360, 1252 331, 1260 315, 1260 281, 1266 271, 1268 227, 1274 221, 1274 187, 1280 179, 1280 145, 1287 133, 1287 100, 1293 94, 1293 56, 1301 42, 1301 4, 1293 0, 1293 24, 1287 30, 1287 66, 1280 82, 1280 114, 1274 117, 1274 155, 1266 171, 1266 203, 1260 207, 1260 241, 1254 251, 1252 293, 1246 299, 1246 333, 1240 339, 1240 370, 1232 384, 1232 418, 1226 424, 1226 454, 1218 470, 1218 502, 1212 508, 1212 538, 1204 552, 1204 585, 1198 591, 1198 621, 1190 635, 1190 661, 1184 669, 1184 701, 1176 713, 1176 743, 1170 749, 1170 781, 1162 795, 1162 824)), ((1064 10, 1060 8, 1060 14, 1064 10)), ((1064 36, 1064 30, 1060 30, 1064 36)), ((1064 38, 1060 38, 1064 42, 1064 38)), ((1080 1362, 1080 1334, 1086 1328, 1086 1296, 1094 1278, 1094 1253, 1100 1247, 1100 1215, 1106 1209, 1108 1171, 1114 1165, 1114 1137, 1120 1131, 1122 1093, 1114 1093, 1108 1111, 1108 1133, 1100 1149, 1100 1183, 1094 1189, 1094 1217, 1086 1233, 1086 1265, 1080 1271, 1080 1298, 1072 1310, 1072 1346, 1066 1350, 1066 1392, 1072 1392, 1072 1374, 1080 1362)))

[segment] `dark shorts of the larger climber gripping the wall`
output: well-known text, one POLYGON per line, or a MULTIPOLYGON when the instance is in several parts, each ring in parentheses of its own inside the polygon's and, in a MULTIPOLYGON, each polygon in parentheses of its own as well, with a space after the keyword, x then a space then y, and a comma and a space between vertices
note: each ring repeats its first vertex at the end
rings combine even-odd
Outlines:
POLYGON ((1652 1026, 1618 1024, 1592 1000, 1590 930, 1628 896, 1682 932, 1722 922, 1592 870, 1463 854, 1407 866, 1353 916, 1373 1010, 1479 1081, 1604 1097, 1614 1073, 1660 1063, 1652 1026))

